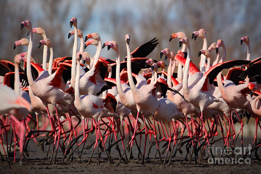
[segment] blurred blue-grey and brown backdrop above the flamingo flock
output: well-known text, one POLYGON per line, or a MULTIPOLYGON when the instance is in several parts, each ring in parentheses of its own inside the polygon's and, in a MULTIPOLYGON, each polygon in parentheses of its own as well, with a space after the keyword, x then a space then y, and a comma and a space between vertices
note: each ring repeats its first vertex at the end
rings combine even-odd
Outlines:
MULTIPOLYGON (((131 35, 131 51, 157 37, 159 44, 148 58, 160 59, 160 51, 169 48, 179 50, 179 40, 169 37, 174 32, 184 32, 190 39, 192 61, 198 65, 198 51, 203 40, 191 39, 194 31, 204 28, 208 46, 223 39, 227 49, 227 59, 246 59, 247 46, 240 46, 240 39, 249 36, 251 60, 261 56, 261 14, 259 0, 144 0, 144 1, 101 1, 101 0, 1 0, 1 57, 13 61, 14 55, 27 51, 27 46, 13 50, 14 41, 28 38, 27 29, 20 30, 22 21, 29 20, 34 27, 42 27, 52 42, 54 58, 72 56, 74 37, 68 39, 70 19, 76 17, 78 28, 84 37, 92 32, 101 36, 102 43, 115 40, 119 44, 121 61, 126 56, 125 34, 131 35)), ((42 63, 43 47, 37 48, 41 35, 34 35, 32 57, 42 63)), ((80 41, 79 41, 80 42, 80 41)), ((78 45, 79 50, 79 45, 78 45)), ((84 51, 95 54, 96 46, 88 46, 84 51)), ((48 51, 48 59, 49 59, 48 51)), ((222 54, 222 49, 220 49, 222 54)), ((115 59, 114 51, 103 49, 101 56, 115 59)), ((211 52, 211 63, 215 51, 211 52)), ((168 62, 166 61, 166 64, 168 62)))

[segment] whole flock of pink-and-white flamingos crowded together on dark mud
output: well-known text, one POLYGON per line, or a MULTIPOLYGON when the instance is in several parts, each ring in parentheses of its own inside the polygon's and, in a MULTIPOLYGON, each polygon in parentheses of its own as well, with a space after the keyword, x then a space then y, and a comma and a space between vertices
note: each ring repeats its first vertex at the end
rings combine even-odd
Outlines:
POLYGON ((222 39, 207 47, 206 31, 200 29, 193 32, 192 39, 203 39, 203 48, 198 52, 198 68, 191 61, 190 41, 183 32, 173 33, 169 38, 169 41, 180 39, 182 50, 177 51, 176 55, 168 48, 160 52, 160 58, 165 55, 165 60, 168 59, 168 65, 165 65, 164 61, 146 58, 157 46, 156 38, 131 52, 130 35, 126 34, 127 56, 121 62, 119 46, 115 41, 106 41, 102 45, 99 34, 91 33, 86 35, 84 43, 75 17, 70 20, 72 26, 74 30, 68 34, 68 39, 74 35, 72 57, 53 59, 51 40, 46 37, 44 29, 32 28, 30 21, 23 21, 21 30, 29 30, 30 40, 23 38, 16 41, 14 49, 26 45, 28 51, 15 55, 14 63, 1 60, 2 160, 12 165, 10 151, 14 150, 15 162, 17 147, 20 163, 23 158, 26 160, 25 155, 29 155, 28 142, 33 139, 42 151, 44 146, 48 146, 46 158, 53 144, 50 164, 55 164, 59 148, 63 153, 62 162, 66 162, 76 150, 81 158, 83 150, 92 147, 89 163, 96 149, 98 165, 101 153, 106 154, 108 163, 113 164, 110 151, 115 146, 119 152, 119 165, 121 160, 129 162, 133 158, 133 142, 139 152, 138 159, 141 155, 142 164, 146 149, 149 154, 151 148, 157 148, 155 157, 158 155, 162 165, 170 165, 173 153, 182 153, 180 148, 184 145, 189 160, 194 156, 197 163, 197 158, 202 159, 205 151, 207 156, 213 157, 207 147, 217 141, 223 141, 223 150, 225 147, 235 147, 240 133, 243 147, 243 117, 255 119, 251 153, 255 151, 255 157, 259 160, 257 131, 258 127, 261 130, 261 57, 250 61, 249 37, 242 37, 240 43, 247 44, 246 60, 225 61, 226 47, 222 39), (42 65, 31 57, 34 33, 43 37, 38 45, 38 48, 44 45, 42 65), (81 41, 79 52, 78 37, 81 41), (88 45, 97 46, 93 57, 84 52, 88 45), (116 52, 115 60, 100 57, 102 48, 106 46, 116 52), (220 47, 223 48, 223 55, 219 61, 220 47), (217 55, 211 65, 210 52, 213 49, 217 55), (167 72, 165 66, 168 66, 167 72), (177 73, 174 73, 175 67, 178 68, 177 73), (222 70, 228 68, 227 75, 222 75, 222 70), (144 71, 139 74, 141 70, 144 71), (36 117, 31 115, 32 112, 36 117), (34 126, 29 126, 29 122, 34 126), (241 125, 239 132, 235 131, 235 124, 241 125), (214 139, 220 134, 218 130, 221 138, 214 139), (90 145, 85 147, 88 135, 94 132, 95 142, 89 142, 90 145), (37 137, 43 138, 38 142, 37 137), (160 142, 165 143, 160 146, 160 142), (144 149, 141 149, 141 143, 144 149), (123 153, 119 148, 121 144, 123 153), (80 145, 83 146, 81 150, 80 145), (162 160, 164 153, 165 159, 162 160))

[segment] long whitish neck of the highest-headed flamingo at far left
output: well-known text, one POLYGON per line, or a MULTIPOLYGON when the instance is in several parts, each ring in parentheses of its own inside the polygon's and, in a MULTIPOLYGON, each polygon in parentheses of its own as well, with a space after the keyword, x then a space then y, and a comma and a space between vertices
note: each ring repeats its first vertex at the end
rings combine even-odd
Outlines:
POLYGON ((31 72, 31 55, 32 55, 32 41, 33 41, 32 27, 29 28, 29 31, 30 31, 30 39, 29 39, 29 46, 28 46, 28 50, 27 50, 26 74, 27 74, 29 85, 33 86, 35 82, 32 78, 32 72, 31 72))

